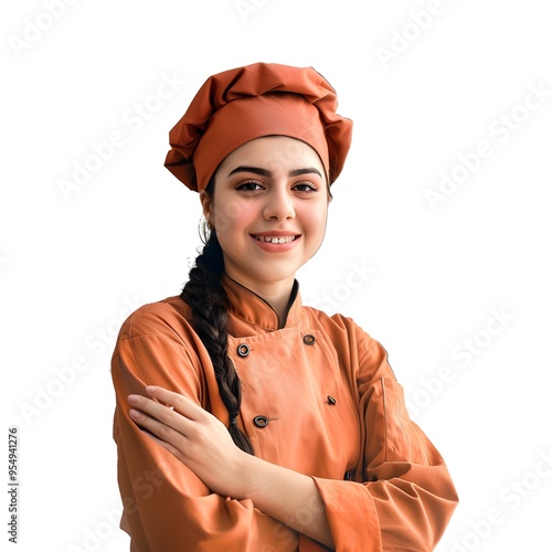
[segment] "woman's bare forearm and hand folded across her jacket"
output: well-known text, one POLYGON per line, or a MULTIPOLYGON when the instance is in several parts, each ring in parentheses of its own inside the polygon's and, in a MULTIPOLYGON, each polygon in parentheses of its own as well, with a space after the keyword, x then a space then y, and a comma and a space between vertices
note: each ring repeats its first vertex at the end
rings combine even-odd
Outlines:
POLYGON ((146 391, 149 396, 129 396, 129 415, 213 492, 250 499, 264 513, 333 548, 311 477, 244 453, 219 420, 185 396, 158 386, 146 391))

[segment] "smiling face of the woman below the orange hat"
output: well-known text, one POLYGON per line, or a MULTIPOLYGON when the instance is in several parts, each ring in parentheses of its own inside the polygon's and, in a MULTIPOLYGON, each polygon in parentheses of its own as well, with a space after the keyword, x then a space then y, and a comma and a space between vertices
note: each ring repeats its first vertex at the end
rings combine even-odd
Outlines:
POLYGON ((290 286, 322 243, 328 184, 318 153, 300 140, 272 136, 241 146, 219 167, 213 195, 201 200, 226 274, 252 290, 290 286))

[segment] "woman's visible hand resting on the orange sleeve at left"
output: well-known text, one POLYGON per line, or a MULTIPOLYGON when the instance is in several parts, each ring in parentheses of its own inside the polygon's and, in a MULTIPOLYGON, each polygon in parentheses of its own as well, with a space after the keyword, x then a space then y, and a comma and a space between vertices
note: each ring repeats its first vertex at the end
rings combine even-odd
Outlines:
POLYGON ((128 396, 130 417, 213 492, 243 498, 240 475, 245 453, 235 446, 224 424, 179 393, 152 385, 146 392, 151 399, 128 396))

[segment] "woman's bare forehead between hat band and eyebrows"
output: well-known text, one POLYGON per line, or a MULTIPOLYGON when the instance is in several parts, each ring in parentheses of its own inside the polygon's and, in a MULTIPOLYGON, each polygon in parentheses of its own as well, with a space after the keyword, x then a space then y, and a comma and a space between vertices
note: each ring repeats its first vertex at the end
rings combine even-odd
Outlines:
POLYGON ((305 167, 316 167, 322 174, 325 172, 320 157, 311 146, 287 136, 264 136, 240 146, 224 159, 217 173, 227 174, 244 164, 270 172, 289 172, 305 167))

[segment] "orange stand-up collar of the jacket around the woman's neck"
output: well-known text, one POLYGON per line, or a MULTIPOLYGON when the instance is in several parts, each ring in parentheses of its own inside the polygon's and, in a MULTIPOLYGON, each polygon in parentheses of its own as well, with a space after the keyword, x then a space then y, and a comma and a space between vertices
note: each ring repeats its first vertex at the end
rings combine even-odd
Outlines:
POLYGON ((278 312, 257 294, 238 284, 227 275, 223 275, 221 284, 229 297, 229 311, 252 326, 265 330, 278 330, 295 326, 301 311, 299 283, 294 282, 287 317, 278 312))

